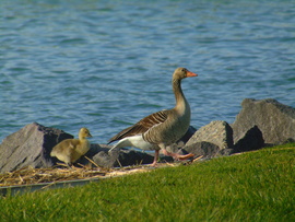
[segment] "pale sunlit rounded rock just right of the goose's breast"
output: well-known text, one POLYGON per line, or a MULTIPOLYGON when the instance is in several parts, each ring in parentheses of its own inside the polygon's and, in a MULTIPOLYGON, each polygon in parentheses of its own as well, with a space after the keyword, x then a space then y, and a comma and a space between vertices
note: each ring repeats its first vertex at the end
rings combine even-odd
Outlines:
POLYGON ((186 147, 204 141, 217 145, 221 150, 232 148, 234 145, 233 129, 226 121, 211 121, 196 131, 186 147))

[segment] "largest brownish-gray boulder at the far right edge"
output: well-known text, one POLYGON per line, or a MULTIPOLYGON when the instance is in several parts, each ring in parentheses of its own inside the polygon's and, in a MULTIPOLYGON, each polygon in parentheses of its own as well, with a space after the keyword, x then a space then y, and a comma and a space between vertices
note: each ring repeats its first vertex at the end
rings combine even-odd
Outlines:
POLYGON ((253 126, 257 126, 266 143, 280 144, 295 139, 295 109, 275 100, 251 100, 241 102, 241 110, 232 125, 237 142, 253 126))

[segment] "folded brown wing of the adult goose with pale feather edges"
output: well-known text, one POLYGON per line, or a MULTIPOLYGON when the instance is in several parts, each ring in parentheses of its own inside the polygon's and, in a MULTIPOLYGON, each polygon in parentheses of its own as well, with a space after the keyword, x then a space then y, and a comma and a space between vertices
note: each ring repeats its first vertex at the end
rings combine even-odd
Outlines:
POLYGON ((108 143, 111 143, 116 140, 121 140, 126 137, 132 137, 135 135, 141 135, 141 133, 146 132, 151 128, 166 121, 168 118, 169 112, 170 110, 161 110, 161 112, 157 112, 157 113, 154 113, 144 117, 143 119, 141 119, 133 126, 123 129, 122 131, 117 133, 115 137, 110 138, 108 143))

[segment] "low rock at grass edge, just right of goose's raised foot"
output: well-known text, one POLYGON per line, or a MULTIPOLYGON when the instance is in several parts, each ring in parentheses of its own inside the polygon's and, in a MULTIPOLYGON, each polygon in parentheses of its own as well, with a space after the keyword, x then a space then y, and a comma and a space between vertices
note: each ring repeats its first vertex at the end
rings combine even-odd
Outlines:
POLYGON ((214 143, 202 141, 186 145, 182 150, 194 155, 202 155, 203 157, 214 157, 221 149, 214 143))

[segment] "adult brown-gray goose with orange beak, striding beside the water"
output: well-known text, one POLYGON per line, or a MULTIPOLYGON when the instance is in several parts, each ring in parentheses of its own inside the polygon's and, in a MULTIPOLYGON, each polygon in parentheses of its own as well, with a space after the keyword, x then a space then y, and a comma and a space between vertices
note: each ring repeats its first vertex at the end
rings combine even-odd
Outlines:
POLYGON ((135 125, 123 129, 109 140, 109 143, 119 140, 110 150, 123 147, 134 147, 141 150, 154 150, 155 156, 152 166, 155 166, 160 150, 163 154, 176 160, 187 160, 193 154, 180 155, 166 151, 166 147, 179 140, 190 126, 190 106, 181 90, 181 80, 188 77, 198 77, 186 68, 177 68, 173 74, 172 85, 176 105, 168 110, 161 110, 141 119, 135 125))

